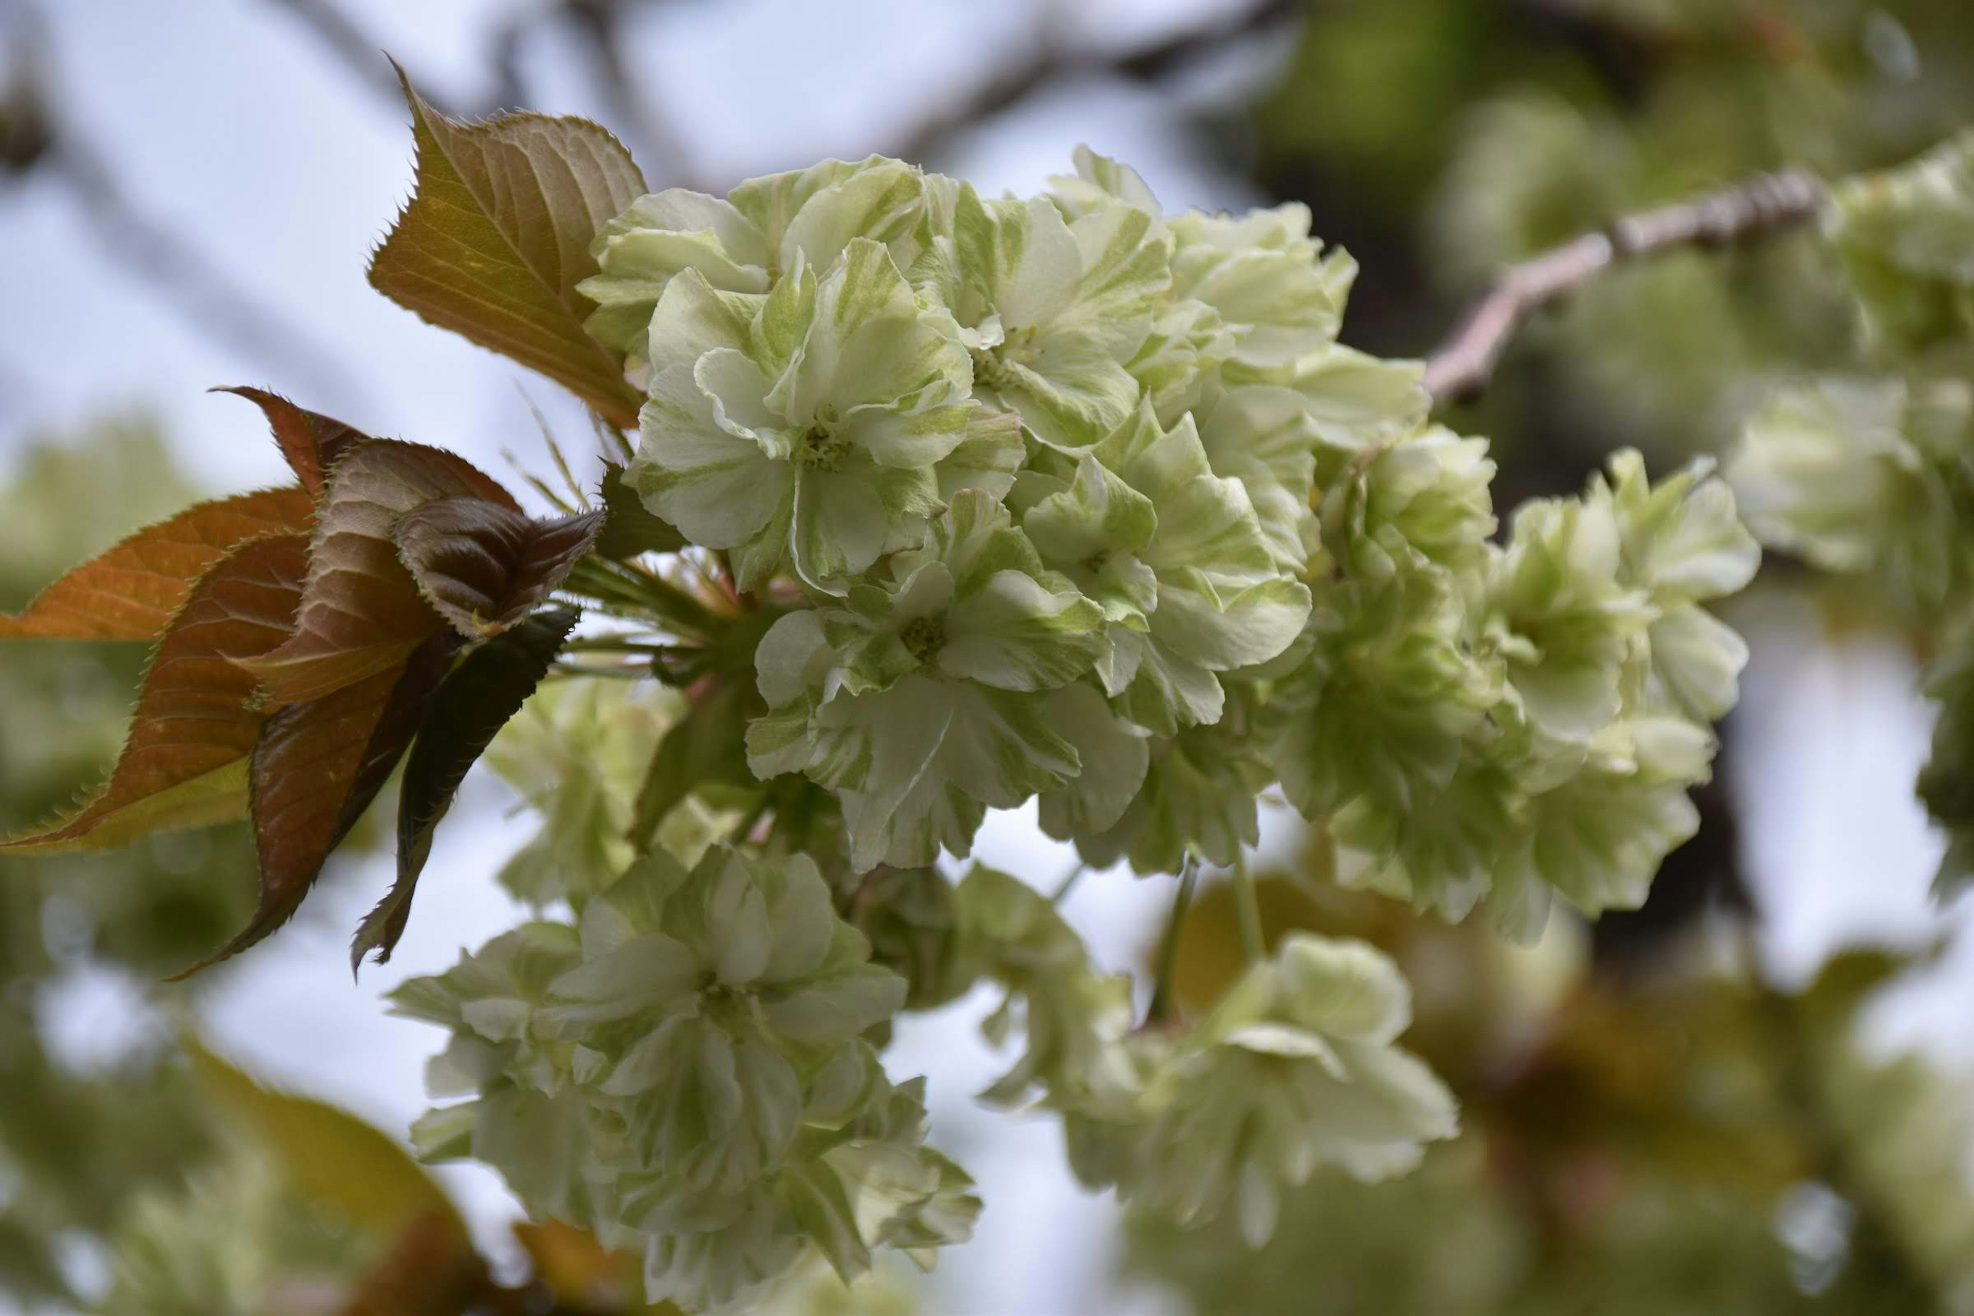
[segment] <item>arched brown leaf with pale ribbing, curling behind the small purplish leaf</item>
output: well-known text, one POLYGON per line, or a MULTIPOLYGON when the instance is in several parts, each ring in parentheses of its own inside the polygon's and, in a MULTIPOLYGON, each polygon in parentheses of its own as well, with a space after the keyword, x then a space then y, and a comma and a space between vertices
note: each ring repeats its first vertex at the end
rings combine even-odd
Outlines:
POLYGON ((519 511, 494 479, 440 448, 373 438, 336 464, 316 515, 294 633, 280 649, 243 663, 274 704, 391 673, 442 625, 391 533, 405 513, 444 497, 519 511))

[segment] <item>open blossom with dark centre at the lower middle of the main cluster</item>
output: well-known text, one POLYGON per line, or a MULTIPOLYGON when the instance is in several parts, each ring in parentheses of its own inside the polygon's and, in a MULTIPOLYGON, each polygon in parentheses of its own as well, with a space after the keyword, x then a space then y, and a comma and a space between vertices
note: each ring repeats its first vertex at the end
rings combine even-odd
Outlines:
POLYGON ((859 870, 965 854, 989 807, 1086 771, 1062 728, 1111 720, 1078 681, 1101 645, 1101 606, 969 489, 922 548, 896 554, 890 580, 776 621, 758 655, 770 714, 748 756, 760 775, 807 771, 841 791, 859 870))

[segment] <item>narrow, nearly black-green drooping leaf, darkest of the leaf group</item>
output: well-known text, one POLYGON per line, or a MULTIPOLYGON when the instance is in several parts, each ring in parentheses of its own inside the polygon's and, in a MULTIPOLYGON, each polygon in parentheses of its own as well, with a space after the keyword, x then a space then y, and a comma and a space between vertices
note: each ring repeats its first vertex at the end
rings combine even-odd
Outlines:
POLYGON ((452 807, 460 781, 549 675, 576 616, 569 608, 551 608, 527 618, 468 653, 432 695, 399 787, 397 882, 357 929, 349 947, 351 969, 369 951, 377 951, 379 965, 391 959, 411 917, 418 872, 432 852, 432 833, 452 807))

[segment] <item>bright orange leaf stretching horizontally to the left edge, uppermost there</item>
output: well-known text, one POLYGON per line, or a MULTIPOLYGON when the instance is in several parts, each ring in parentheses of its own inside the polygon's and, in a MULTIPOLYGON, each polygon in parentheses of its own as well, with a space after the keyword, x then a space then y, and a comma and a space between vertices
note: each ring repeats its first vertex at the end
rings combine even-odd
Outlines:
POLYGON ((306 531, 314 515, 304 489, 197 503, 77 566, 18 618, 0 616, 0 639, 156 639, 213 562, 251 539, 306 531))

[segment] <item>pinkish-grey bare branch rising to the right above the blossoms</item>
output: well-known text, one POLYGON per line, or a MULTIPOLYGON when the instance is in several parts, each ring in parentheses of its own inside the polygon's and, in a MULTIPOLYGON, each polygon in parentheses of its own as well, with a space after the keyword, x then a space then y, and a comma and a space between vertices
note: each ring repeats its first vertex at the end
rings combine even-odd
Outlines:
POLYGON ((1627 215, 1603 233, 1585 233, 1516 264, 1427 357, 1425 389, 1437 402, 1479 395, 1530 316, 1617 264, 1680 247, 1725 247, 1786 233, 1816 219, 1826 197, 1824 183, 1810 174, 1757 174, 1692 201, 1627 215))

